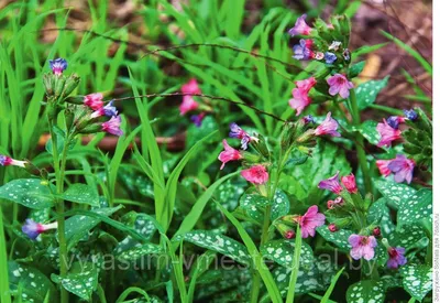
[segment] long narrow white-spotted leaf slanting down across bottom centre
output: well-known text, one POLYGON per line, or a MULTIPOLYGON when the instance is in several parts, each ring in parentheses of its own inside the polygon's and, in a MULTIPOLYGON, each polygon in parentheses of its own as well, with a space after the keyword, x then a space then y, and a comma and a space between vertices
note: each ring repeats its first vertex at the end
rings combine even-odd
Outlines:
POLYGON ((178 236, 174 240, 179 241, 182 238, 199 247, 228 256, 242 264, 249 264, 251 260, 242 244, 223 235, 208 230, 194 230, 178 236))

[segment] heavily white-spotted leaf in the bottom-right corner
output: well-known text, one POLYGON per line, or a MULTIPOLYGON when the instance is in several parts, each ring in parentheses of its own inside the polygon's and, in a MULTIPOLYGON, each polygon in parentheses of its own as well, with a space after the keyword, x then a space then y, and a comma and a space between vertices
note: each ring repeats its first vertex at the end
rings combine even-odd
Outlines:
POLYGON ((405 290, 418 301, 432 290, 432 268, 425 264, 407 264, 400 268, 405 290))

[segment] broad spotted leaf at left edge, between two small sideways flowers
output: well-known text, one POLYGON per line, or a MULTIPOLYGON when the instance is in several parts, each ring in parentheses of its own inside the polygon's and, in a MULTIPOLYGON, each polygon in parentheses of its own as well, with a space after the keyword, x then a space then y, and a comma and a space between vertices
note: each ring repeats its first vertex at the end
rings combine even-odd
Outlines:
POLYGON ((19 203, 33 209, 53 206, 53 197, 48 185, 40 178, 18 178, 0 187, 0 198, 19 203))

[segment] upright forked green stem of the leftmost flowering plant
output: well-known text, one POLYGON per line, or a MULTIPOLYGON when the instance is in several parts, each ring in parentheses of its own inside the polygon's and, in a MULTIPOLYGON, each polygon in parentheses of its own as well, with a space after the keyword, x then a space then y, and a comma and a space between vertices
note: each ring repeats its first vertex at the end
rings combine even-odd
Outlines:
MULTIPOLYGON (((57 138, 54 132, 54 121, 52 117, 48 117, 48 127, 52 139, 52 154, 54 156, 54 171, 56 178, 56 195, 63 194, 64 191, 64 171, 66 166, 66 154, 67 154, 67 145, 68 139, 64 141, 62 159, 59 163, 59 154, 57 150, 57 138)), ((64 199, 56 197, 56 213, 58 215, 58 241, 59 241, 59 275, 61 278, 66 278, 67 275, 67 244, 66 244, 66 230, 65 230, 65 218, 64 214, 64 199)), ((61 286, 61 302, 68 302, 68 292, 61 286)))

